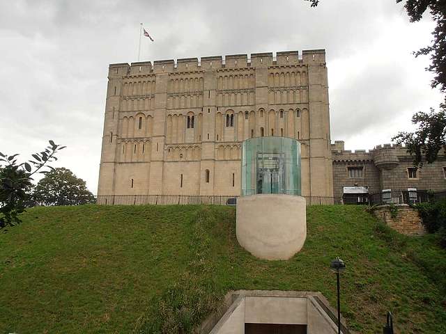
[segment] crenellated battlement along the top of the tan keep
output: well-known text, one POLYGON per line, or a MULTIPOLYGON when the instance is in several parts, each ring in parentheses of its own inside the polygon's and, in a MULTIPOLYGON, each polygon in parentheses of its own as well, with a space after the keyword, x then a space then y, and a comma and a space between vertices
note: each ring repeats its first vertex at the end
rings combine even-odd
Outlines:
POLYGON ((109 65, 109 77, 123 75, 144 75, 185 71, 209 71, 220 68, 236 69, 245 67, 295 66, 321 63, 325 65, 325 49, 303 51, 278 51, 255 54, 229 54, 226 56, 205 56, 201 58, 178 58, 160 61, 139 61, 109 65))

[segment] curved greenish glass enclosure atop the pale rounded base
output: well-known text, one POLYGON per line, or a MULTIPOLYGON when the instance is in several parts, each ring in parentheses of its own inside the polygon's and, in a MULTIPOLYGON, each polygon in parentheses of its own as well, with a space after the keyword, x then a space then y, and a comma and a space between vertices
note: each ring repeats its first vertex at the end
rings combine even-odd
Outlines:
POLYGON ((300 196, 300 143, 287 137, 243 142, 242 196, 284 193, 300 196))

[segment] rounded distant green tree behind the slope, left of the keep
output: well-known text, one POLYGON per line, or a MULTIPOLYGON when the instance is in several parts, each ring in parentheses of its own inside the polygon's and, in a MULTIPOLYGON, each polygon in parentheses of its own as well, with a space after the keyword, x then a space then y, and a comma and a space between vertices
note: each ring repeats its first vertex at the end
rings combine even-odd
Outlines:
POLYGON ((95 202, 85 181, 67 168, 55 168, 40 180, 34 191, 36 202, 43 205, 82 205, 95 202))

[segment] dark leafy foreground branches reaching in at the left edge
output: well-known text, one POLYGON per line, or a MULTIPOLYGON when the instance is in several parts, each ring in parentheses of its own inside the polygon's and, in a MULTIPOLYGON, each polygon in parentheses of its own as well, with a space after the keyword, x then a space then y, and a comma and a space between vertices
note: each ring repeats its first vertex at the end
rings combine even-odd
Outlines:
POLYGON ((31 198, 33 175, 48 173, 49 161, 57 160, 54 155, 66 148, 49 141, 49 146, 42 152, 31 154, 33 159, 17 164, 19 154, 3 154, 0 152, 0 229, 21 222, 18 214, 24 212, 31 198), (1 161, 3 161, 2 167, 1 161), (47 170, 45 170, 47 168, 47 170))

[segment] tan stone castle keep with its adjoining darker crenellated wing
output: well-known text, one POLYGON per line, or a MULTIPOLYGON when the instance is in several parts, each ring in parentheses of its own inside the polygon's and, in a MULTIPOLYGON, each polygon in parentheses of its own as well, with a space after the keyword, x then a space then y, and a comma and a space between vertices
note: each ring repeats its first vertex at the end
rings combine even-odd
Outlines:
POLYGON ((302 196, 345 186, 446 189, 445 154, 416 170, 405 148, 330 144, 325 50, 109 65, 98 195, 240 195, 241 143, 301 144, 302 196))

